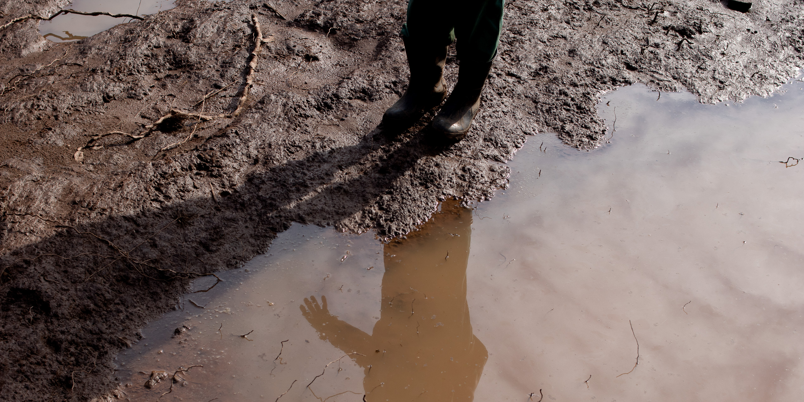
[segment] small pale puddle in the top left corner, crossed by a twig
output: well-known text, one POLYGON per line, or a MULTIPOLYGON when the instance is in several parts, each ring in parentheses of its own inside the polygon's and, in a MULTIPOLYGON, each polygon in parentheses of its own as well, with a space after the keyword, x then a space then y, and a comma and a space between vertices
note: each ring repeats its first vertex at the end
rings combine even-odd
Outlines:
MULTIPOLYGON (((105 11, 109 14, 143 15, 169 10, 173 8, 173 0, 75 0, 64 8, 85 13, 105 11)), ((127 23, 130 19, 108 15, 62 14, 51 21, 40 22, 39 33, 53 42, 71 42, 127 23)))

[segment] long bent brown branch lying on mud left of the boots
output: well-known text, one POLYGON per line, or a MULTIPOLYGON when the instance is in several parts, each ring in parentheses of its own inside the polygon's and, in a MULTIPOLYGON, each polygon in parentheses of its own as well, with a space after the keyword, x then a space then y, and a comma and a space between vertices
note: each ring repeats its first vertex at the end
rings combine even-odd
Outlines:
MULTIPOLYGON (((170 112, 166 115, 159 117, 157 121, 154 121, 150 125, 145 126, 145 131, 140 134, 129 134, 123 133, 121 131, 110 131, 109 133, 104 133, 92 137, 89 141, 84 145, 80 146, 76 153, 73 154, 73 158, 76 162, 84 161, 84 150, 100 150, 103 146, 92 146, 92 143, 100 140, 100 138, 107 137, 109 135, 122 135, 125 137, 130 137, 133 141, 141 140, 142 138, 148 137, 151 133, 153 133, 156 129, 158 129, 159 125, 162 125, 166 121, 184 121, 187 119, 198 119, 200 121, 214 121, 219 119, 233 119, 235 117, 240 116, 240 113, 243 112, 244 106, 246 101, 248 100, 248 92, 254 86, 254 72, 256 72, 256 64, 259 61, 260 51, 262 50, 262 28, 260 27, 260 20, 257 18, 256 14, 252 14, 252 23, 254 25, 254 49, 248 55, 248 64, 246 66, 246 80, 243 89, 240 92, 240 100, 237 102, 237 107, 232 113, 218 113, 218 114, 204 114, 204 113, 187 113, 183 112, 182 110, 178 109, 170 109, 170 112)), ((170 146, 166 147, 168 149, 170 146)))

